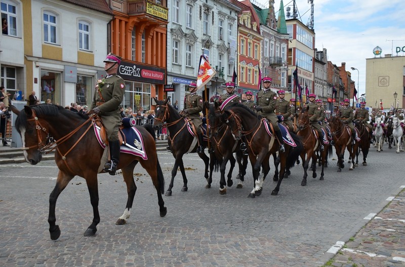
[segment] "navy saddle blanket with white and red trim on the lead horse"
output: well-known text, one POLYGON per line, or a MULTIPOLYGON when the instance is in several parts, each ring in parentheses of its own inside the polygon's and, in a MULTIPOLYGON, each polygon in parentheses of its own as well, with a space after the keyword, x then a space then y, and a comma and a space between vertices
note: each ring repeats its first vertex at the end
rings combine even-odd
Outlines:
MULTIPOLYGON (((125 135, 126 143, 123 142, 120 146, 121 153, 133 154, 136 156, 140 156, 143 159, 148 159, 144 149, 144 142, 142 138, 142 134, 136 129, 135 127, 131 128, 123 128, 120 130, 125 135)), ((100 135, 100 127, 94 125, 94 133, 96 134, 97 141, 101 145, 101 147, 105 148, 105 143, 101 139, 100 135)), ((124 138, 123 138, 124 139, 124 138)))

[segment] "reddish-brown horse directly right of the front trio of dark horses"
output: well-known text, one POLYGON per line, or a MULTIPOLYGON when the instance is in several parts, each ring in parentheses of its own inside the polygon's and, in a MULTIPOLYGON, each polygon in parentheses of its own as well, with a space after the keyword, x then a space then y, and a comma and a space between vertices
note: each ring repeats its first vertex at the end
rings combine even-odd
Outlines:
MULTIPOLYGON (((302 167, 304 168, 304 177, 302 178, 301 185, 305 186, 307 184, 307 170, 309 166, 309 161, 312 159, 312 178, 316 178, 316 161, 317 157, 315 151, 319 147, 320 144, 323 143, 322 136, 316 138, 313 129, 310 127, 309 124, 309 117, 308 108, 301 110, 298 114, 297 119, 297 135, 301 136, 302 142, 304 144, 304 150, 301 152, 301 159, 302 159, 302 167), (322 143, 320 143, 322 142, 322 143), (306 158, 305 158, 306 156, 306 158)), ((323 151, 320 151, 320 164, 321 164, 321 172, 319 180, 323 180, 323 169, 325 168, 325 163, 328 158, 328 152, 332 154, 332 146, 324 144, 323 151)))

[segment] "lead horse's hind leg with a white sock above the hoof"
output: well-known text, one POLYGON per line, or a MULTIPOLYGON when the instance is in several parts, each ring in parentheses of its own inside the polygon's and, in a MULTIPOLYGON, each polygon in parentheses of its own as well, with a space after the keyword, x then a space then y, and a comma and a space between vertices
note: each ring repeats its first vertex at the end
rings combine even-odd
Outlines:
POLYGON ((127 200, 127 206, 125 207, 124 214, 121 215, 121 217, 118 218, 116 221, 116 225, 125 225, 127 223, 127 219, 130 218, 131 215, 131 209, 132 209, 132 204, 134 202, 134 197, 136 193, 136 184, 134 181, 134 168, 138 162, 131 163, 125 168, 121 168, 121 171, 123 172, 123 177, 124 181, 127 184, 127 193, 128 193, 128 200, 127 200))

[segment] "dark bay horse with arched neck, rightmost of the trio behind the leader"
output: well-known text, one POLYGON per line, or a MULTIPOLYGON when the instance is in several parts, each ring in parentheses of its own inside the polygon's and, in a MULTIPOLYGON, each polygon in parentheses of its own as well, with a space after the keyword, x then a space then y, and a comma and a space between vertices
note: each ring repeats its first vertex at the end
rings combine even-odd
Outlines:
MULTIPOLYGON (((220 115, 220 119, 223 123, 229 125, 236 140, 244 136, 254 179, 254 188, 249 197, 259 196, 263 189, 263 182, 270 171, 269 157, 279 149, 279 143, 275 140, 275 135, 270 136, 265 129, 264 123, 266 122, 264 119, 261 116, 257 116, 243 104, 234 104, 225 109, 224 113, 220 115), (262 167, 262 177, 259 179, 260 167, 262 167)), ((292 146, 285 144, 286 151, 279 153, 280 178, 271 195, 278 194, 286 167, 290 169, 294 166, 303 149, 300 138, 295 134, 291 134, 291 136, 297 147, 292 149, 292 146)))

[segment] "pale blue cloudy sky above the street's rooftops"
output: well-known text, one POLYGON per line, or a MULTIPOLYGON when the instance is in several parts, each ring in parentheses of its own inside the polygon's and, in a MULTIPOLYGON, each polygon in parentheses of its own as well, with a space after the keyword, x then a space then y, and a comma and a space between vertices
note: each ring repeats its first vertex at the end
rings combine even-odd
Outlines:
MULTIPOLYGON (((268 7, 268 0, 252 0, 268 7)), ((274 0, 276 18, 280 0, 274 0)), ((284 0, 284 12, 293 2, 284 0)), ((328 49, 328 60, 337 66, 346 62, 346 70, 351 72, 357 84, 359 71, 359 94, 366 89, 366 59, 374 58, 373 49, 377 45, 385 54, 396 56, 396 46, 405 46, 405 5, 404 0, 314 0, 315 47, 328 49), (391 41, 394 40, 394 41, 391 41), (392 49, 393 47, 393 49, 392 49), (392 52, 391 52, 392 51, 392 52)), ((297 0, 299 16, 308 23, 311 6, 307 0, 297 0)), ((286 19, 288 19, 286 17, 286 19)), ((398 56, 405 56, 404 52, 398 56)))

